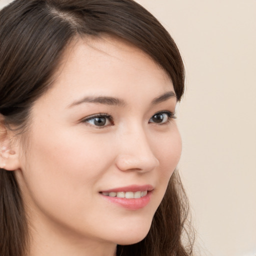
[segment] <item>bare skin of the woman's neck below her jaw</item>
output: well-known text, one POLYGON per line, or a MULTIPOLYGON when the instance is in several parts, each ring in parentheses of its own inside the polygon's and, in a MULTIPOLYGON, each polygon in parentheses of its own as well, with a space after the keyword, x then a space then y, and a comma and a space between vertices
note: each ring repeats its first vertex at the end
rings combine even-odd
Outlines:
MULTIPOLYGON (((42 221, 43 222, 43 221, 42 221)), ((41 221, 30 226, 29 256, 115 256, 116 244, 102 241, 75 232, 66 231, 59 226, 45 226, 41 221)))

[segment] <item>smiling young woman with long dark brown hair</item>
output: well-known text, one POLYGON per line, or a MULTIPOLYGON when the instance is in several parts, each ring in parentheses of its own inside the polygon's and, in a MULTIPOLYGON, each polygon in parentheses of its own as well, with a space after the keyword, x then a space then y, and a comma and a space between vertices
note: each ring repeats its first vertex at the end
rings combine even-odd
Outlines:
POLYGON ((3 8, 0 255, 190 255, 183 89, 174 41, 132 0, 3 8))

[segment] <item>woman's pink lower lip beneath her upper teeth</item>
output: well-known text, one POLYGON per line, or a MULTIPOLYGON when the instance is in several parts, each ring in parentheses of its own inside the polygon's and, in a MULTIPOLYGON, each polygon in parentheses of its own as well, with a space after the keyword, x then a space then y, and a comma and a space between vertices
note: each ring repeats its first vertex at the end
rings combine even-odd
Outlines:
POLYGON ((120 198, 120 197, 111 197, 101 194, 106 200, 119 204, 120 206, 130 209, 137 210, 145 207, 151 199, 152 191, 147 191, 147 194, 140 198, 120 198))

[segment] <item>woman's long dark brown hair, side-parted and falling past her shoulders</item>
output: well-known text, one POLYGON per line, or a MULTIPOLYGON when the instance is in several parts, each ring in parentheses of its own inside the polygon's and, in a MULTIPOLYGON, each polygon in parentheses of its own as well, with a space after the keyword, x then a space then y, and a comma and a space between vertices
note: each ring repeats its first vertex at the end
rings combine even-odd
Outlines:
MULTIPOLYGON (((33 102, 53 81, 65 47, 75 38, 110 35, 146 52, 169 75, 180 100, 184 67, 163 26, 132 0, 15 0, 0 11, 0 116, 5 127, 22 133, 33 102)), ((2 124, 3 125, 3 124, 2 124)), ((187 198, 177 171, 147 236, 117 245, 117 255, 187 256, 187 198)), ((0 255, 24 256, 29 248, 20 190, 11 171, 0 169, 0 255)))

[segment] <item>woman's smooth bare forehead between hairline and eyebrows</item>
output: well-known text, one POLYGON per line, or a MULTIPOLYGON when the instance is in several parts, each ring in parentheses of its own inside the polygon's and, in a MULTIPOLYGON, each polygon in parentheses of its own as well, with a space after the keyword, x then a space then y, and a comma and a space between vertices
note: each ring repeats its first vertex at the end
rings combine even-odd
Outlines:
POLYGON ((146 53, 123 40, 104 36, 70 43, 50 90, 58 98, 75 100, 78 94, 135 97, 138 90, 143 96, 150 92, 155 97, 170 89, 170 78, 146 53))

